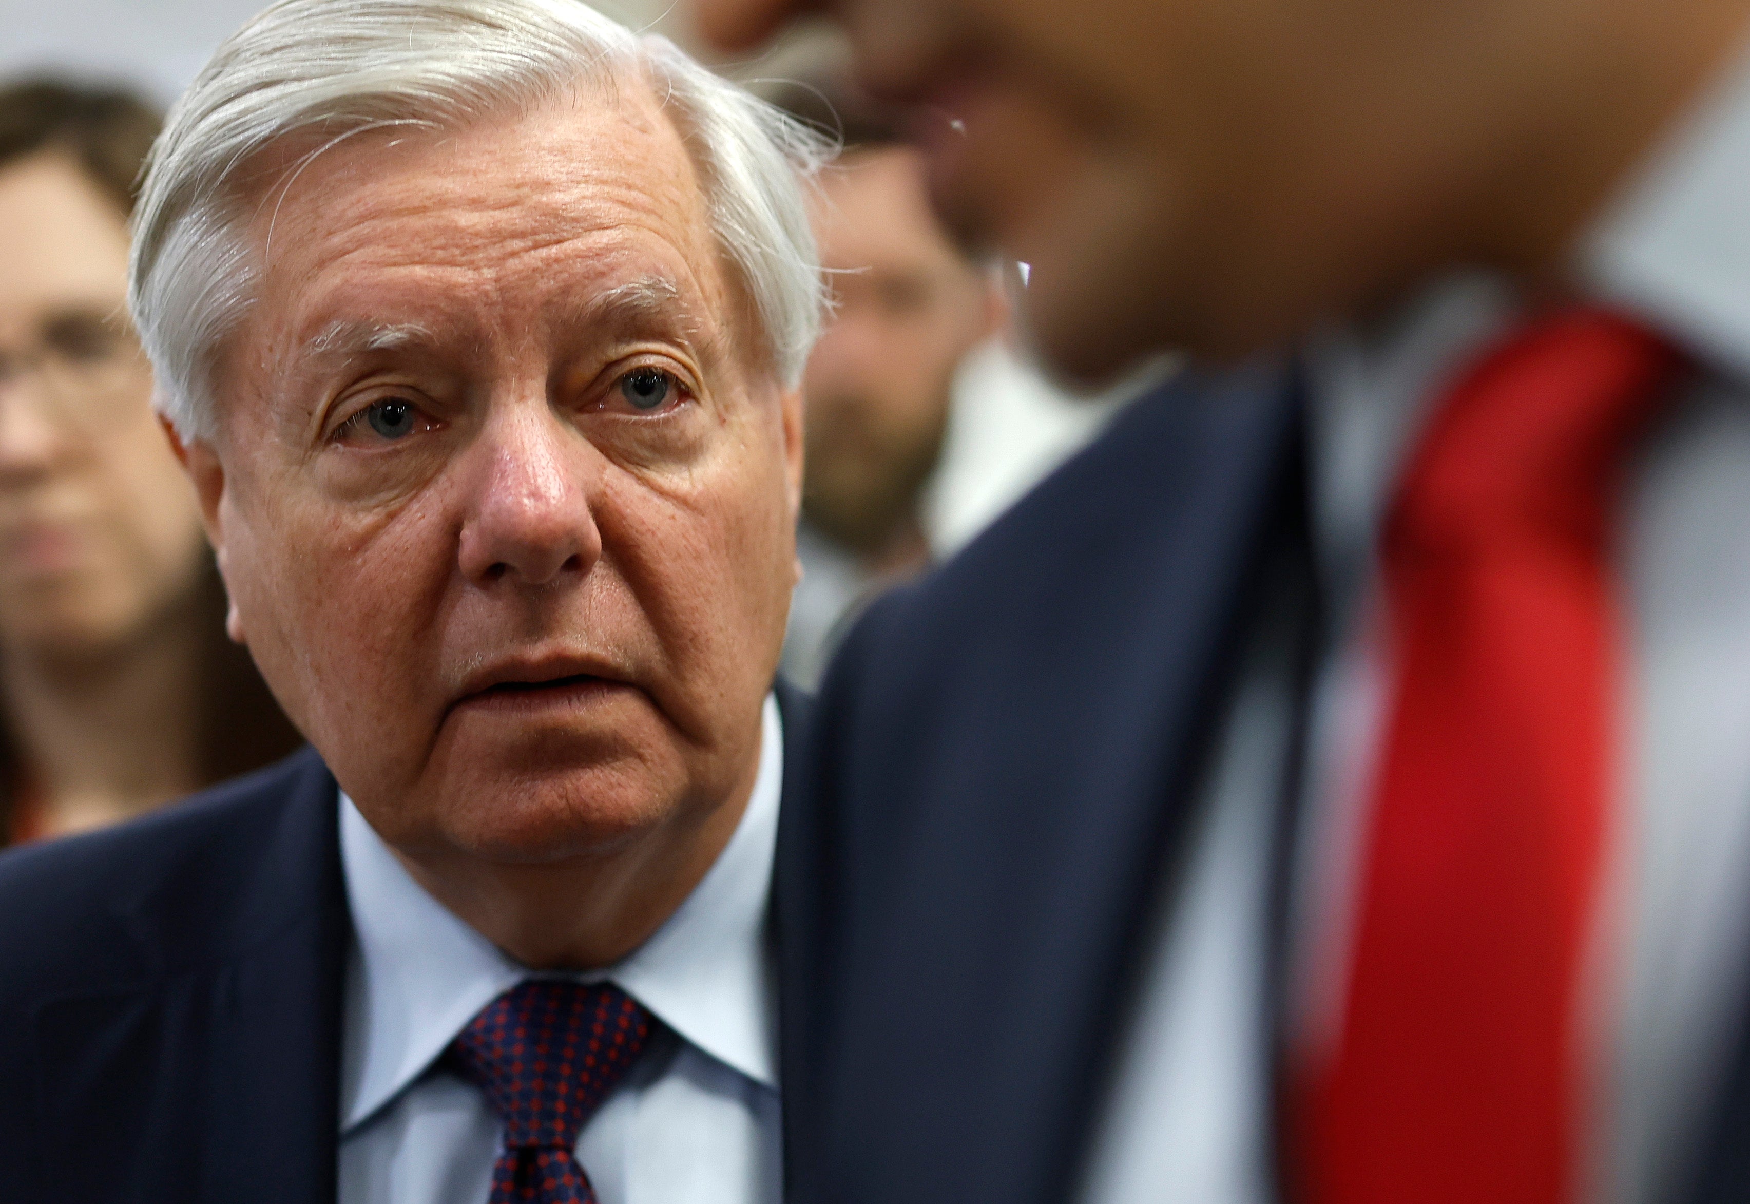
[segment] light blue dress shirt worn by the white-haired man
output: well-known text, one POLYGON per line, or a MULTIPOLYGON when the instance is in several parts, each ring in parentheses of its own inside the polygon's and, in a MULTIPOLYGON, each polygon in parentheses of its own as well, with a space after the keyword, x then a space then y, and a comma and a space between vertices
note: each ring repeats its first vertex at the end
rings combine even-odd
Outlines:
MULTIPOLYGON (((668 1029, 578 1139, 600 1204, 766 1204, 782 1195, 766 901, 784 737, 766 698, 760 770, 735 835, 693 894, 598 973, 668 1029)), ((355 942, 346 966, 340 1204, 485 1204, 504 1127, 439 1062, 518 982, 516 964, 420 887, 341 794, 355 942)))

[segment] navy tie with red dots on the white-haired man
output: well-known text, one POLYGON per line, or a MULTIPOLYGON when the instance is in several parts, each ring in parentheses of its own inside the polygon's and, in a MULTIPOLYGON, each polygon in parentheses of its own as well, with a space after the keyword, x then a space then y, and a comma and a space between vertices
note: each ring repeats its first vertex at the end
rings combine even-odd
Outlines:
POLYGON ((532 980, 462 1029, 450 1055, 504 1122, 488 1204, 595 1204, 572 1150, 653 1027, 651 1013, 620 987, 532 980))

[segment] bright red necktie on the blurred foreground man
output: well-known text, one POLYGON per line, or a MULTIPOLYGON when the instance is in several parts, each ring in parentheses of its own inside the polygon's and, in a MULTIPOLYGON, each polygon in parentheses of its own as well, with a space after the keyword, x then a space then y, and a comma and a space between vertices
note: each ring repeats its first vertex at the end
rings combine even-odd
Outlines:
POLYGON ((1410 460, 1346 1010, 1290 1122, 1314 1204, 1575 1197, 1619 747, 1612 502, 1675 366, 1608 313, 1544 315, 1410 460))

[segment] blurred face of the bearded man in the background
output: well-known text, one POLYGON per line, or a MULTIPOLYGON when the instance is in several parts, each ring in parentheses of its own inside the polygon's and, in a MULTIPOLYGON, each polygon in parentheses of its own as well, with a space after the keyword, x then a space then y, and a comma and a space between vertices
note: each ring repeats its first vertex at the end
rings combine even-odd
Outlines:
POLYGON ((845 156, 814 220, 838 310, 803 376, 803 511, 822 532, 878 553, 915 520, 942 452, 961 359, 990 332, 998 299, 942 233, 920 156, 845 156))

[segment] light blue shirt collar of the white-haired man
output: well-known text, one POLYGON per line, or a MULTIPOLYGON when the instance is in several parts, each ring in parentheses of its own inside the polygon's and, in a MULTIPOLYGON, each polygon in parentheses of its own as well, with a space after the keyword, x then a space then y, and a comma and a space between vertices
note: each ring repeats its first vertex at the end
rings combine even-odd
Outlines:
MULTIPOLYGON (((775 990, 765 940, 784 732, 761 712, 760 770, 735 835, 679 910, 609 980, 682 1040, 768 1088, 775 990)), ((430 1066, 457 1032, 532 973, 413 880, 343 793, 340 852, 352 906, 341 1052, 341 1134, 369 1120, 430 1066)))

